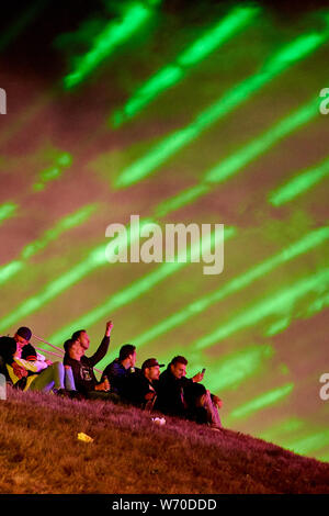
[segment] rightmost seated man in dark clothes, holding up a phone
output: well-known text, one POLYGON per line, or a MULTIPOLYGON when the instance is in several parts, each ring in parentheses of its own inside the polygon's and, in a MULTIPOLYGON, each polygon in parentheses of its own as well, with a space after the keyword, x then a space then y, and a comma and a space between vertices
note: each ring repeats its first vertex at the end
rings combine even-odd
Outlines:
POLYGON ((222 401, 218 396, 212 396, 203 385, 198 385, 203 380, 202 373, 192 379, 185 378, 186 366, 185 357, 178 356, 160 374, 155 408, 163 414, 208 423, 220 428, 217 408, 222 406, 222 401))

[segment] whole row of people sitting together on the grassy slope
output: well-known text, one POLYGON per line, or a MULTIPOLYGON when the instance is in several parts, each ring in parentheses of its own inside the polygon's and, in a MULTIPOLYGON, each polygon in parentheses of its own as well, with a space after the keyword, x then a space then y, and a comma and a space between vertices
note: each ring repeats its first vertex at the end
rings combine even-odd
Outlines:
POLYGON ((106 323, 104 337, 91 356, 87 357, 90 338, 86 329, 75 332, 64 344, 63 362, 52 362, 30 344, 32 332, 22 326, 13 337, 0 337, 0 373, 16 389, 54 392, 76 400, 110 400, 127 403, 149 412, 207 424, 220 429, 218 408, 222 400, 201 383, 204 372, 186 378, 188 360, 174 357, 160 373, 156 358, 136 368, 136 347, 125 344, 118 357, 104 369, 101 380, 94 367, 109 350, 112 321, 106 323))

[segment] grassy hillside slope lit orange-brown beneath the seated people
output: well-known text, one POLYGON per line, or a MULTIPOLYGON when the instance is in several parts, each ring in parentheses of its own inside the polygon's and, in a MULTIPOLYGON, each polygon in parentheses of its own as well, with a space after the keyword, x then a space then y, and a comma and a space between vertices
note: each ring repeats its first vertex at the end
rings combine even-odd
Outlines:
POLYGON ((329 463, 166 419, 159 427, 134 407, 9 389, 0 402, 0 493, 329 493, 329 463))

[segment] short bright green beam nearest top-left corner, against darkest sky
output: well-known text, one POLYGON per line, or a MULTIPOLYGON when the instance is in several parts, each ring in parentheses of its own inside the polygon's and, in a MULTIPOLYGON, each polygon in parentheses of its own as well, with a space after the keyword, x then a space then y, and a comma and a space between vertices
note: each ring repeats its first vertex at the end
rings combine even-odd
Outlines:
POLYGON ((143 3, 131 3, 122 20, 111 21, 94 41, 92 48, 80 57, 76 69, 64 78, 66 89, 80 83, 114 49, 133 36, 150 18, 152 10, 143 3))

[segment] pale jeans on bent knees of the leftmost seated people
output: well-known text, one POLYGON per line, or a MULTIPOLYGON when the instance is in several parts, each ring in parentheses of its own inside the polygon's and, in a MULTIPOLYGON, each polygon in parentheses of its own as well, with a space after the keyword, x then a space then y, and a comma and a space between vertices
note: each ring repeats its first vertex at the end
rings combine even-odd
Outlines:
POLYGON ((54 362, 35 377, 30 385, 31 391, 49 392, 53 389, 76 390, 71 368, 65 368, 61 362, 54 362))

